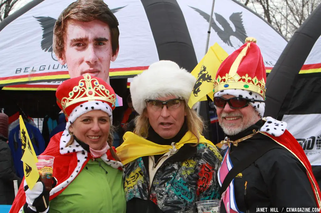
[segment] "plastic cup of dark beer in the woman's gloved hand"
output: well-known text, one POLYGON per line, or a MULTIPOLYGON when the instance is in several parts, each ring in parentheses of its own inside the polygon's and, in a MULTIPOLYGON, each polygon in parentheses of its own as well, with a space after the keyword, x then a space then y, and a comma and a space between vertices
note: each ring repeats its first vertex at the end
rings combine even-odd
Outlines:
POLYGON ((50 155, 40 155, 37 156, 38 163, 36 163, 40 180, 45 184, 46 191, 52 189, 52 173, 54 168, 55 157, 50 155))

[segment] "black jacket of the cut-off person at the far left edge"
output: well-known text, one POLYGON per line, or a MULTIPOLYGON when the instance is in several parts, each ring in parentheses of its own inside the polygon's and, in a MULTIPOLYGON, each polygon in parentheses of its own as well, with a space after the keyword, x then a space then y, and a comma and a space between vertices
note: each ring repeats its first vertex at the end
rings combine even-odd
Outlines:
POLYGON ((7 139, 0 136, 0 205, 11 205, 14 200, 13 180, 21 184, 13 166, 13 160, 7 139))

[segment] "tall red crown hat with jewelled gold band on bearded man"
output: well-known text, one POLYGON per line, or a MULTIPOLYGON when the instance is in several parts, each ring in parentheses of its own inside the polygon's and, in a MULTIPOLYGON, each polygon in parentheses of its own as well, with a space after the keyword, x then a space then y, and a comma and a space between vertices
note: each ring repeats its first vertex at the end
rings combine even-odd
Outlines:
POLYGON ((256 39, 248 37, 238 50, 230 54, 219 67, 213 92, 243 89, 260 94, 265 99, 266 71, 256 39))

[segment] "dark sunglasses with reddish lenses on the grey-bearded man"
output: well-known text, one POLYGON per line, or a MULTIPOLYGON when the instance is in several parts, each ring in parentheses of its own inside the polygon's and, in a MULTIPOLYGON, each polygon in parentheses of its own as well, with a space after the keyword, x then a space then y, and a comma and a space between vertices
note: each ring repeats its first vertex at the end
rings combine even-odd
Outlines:
POLYGON ((214 97, 214 105, 219 108, 224 108, 226 103, 229 103, 231 109, 240 109, 243 107, 248 106, 250 102, 265 102, 263 100, 256 100, 256 99, 247 99, 247 98, 230 98, 224 99, 222 97, 214 97))

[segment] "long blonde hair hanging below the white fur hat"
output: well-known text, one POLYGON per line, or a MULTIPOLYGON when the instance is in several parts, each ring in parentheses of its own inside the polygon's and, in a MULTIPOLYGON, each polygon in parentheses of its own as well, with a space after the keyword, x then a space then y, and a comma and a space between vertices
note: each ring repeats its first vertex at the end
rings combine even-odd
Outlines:
MULTIPOLYGON (((204 129, 204 121, 200 118, 195 110, 189 108, 189 106, 185 103, 185 112, 186 112, 186 122, 187 122, 187 130, 192 132, 193 135, 196 136, 199 143, 199 134, 203 132, 204 129)), ((148 128, 150 127, 149 120, 147 118, 147 109, 144 108, 143 113, 138 115, 135 118, 135 129, 134 133, 142 138, 148 137, 148 128)))

